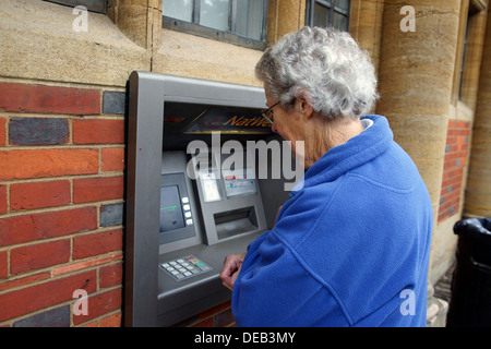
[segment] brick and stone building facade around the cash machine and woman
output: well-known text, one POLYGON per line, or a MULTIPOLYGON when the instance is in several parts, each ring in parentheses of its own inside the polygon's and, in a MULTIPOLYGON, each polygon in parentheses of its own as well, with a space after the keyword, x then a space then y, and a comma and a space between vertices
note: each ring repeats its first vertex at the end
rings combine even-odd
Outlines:
MULTIPOLYGON (((122 325, 132 71, 261 86, 262 50, 306 24, 345 28, 372 57, 373 111, 433 203, 434 285, 454 262, 453 225, 491 216, 488 0, 334 2, 227 2, 223 14, 197 0, 1 0, 0 326, 122 325)), ((444 312, 430 301, 429 324, 444 312)), ((230 304, 180 325, 233 325, 230 304)))

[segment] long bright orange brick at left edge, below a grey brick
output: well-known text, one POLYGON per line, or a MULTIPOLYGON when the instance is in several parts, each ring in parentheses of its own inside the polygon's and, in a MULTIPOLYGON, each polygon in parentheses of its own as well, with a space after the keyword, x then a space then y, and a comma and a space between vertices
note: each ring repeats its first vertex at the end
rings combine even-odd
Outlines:
POLYGON ((97 149, 1 151, 0 180, 97 173, 97 149))

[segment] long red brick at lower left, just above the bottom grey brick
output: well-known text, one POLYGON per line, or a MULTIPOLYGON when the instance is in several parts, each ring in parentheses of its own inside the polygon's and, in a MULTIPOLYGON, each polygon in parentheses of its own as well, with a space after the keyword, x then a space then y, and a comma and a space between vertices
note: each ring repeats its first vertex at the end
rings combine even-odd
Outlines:
POLYGON ((0 322, 69 301, 77 289, 92 293, 96 284, 96 270, 91 270, 1 293, 0 322))

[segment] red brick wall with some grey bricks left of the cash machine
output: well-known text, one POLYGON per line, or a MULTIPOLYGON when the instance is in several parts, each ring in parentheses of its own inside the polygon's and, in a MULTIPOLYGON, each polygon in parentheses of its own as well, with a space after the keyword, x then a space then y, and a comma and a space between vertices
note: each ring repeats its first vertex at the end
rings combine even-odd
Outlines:
POLYGON ((123 110, 122 92, 0 82, 0 326, 121 325, 123 110))

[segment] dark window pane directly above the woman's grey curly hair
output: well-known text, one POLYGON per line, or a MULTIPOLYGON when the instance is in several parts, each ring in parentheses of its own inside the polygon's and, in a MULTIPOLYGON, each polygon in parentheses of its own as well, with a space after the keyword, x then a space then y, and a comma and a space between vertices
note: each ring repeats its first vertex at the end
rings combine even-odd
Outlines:
POLYGON ((333 26, 348 32, 349 4, 349 0, 309 0, 306 24, 320 27, 333 26))

